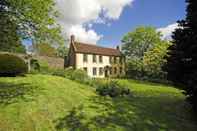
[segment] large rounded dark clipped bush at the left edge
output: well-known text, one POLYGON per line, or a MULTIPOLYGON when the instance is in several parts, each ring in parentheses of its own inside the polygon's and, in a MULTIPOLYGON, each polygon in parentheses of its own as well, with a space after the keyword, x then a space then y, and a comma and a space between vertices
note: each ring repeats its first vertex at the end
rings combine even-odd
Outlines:
POLYGON ((0 54, 0 76, 17 76, 27 73, 23 59, 12 54, 0 54))

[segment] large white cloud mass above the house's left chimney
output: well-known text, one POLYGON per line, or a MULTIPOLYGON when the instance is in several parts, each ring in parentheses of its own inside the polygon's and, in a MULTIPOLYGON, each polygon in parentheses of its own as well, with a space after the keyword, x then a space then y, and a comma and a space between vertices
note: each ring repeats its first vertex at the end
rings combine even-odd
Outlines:
POLYGON ((102 34, 92 29, 94 23, 109 24, 117 20, 124 7, 134 0, 56 0, 60 12, 58 23, 68 37, 71 33, 83 42, 96 43, 102 34))

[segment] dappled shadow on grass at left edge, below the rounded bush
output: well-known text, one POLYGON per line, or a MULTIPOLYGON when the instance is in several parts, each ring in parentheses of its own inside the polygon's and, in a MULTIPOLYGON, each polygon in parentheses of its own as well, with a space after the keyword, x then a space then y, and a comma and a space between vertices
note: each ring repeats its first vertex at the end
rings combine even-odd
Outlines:
POLYGON ((0 105, 9 105, 16 103, 19 100, 32 101, 36 95, 38 87, 32 86, 29 83, 8 83, 0 82, 0 105))

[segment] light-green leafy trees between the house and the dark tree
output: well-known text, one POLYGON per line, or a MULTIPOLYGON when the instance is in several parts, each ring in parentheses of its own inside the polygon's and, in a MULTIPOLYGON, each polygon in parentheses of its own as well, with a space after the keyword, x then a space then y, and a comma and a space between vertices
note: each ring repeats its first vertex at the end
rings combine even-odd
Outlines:
POLYGON ((170 43, 161 39, 161 33, 153 27, 138 27, 122 39, 127 57, 127 77, 163 82, 165 72, 161 67, 170 43))

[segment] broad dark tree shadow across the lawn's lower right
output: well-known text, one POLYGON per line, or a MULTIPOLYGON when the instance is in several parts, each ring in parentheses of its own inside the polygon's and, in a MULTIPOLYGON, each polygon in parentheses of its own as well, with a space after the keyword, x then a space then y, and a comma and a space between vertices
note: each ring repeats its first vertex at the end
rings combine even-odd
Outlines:
MULTIPOLYGON (((189 105, 182 99, 168 97, 128 96, 90 99, 88 107, 97 112, 89 118, 83 108, 73 108, 57 122, 56 129, 70 131, 117 130, 123 131, 196 131, 197 123, 189 105)), ((86 112, 89 113, 89 112, 86 112)))

